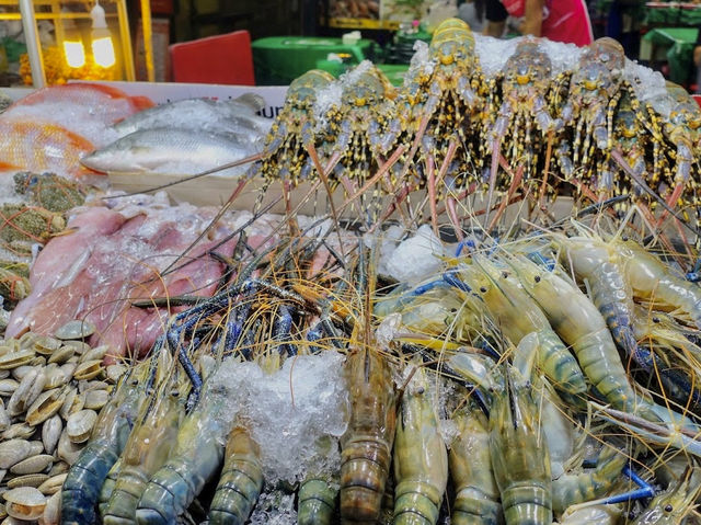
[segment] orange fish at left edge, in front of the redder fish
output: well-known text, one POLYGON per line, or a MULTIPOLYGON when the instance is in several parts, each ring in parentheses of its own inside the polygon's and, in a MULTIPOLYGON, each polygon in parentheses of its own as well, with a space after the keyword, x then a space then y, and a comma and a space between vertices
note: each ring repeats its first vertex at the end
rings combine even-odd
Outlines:
POLYGON ((85 173, 79 161, 92 142, 51 123, 0 121, 0 171, 51 171, 60 175, 85 173))

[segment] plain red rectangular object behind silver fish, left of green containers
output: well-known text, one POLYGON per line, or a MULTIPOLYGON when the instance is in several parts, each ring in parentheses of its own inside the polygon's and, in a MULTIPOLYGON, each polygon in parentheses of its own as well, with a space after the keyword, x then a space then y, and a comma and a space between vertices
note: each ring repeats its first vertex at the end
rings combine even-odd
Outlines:
POLYGON ((170 56, 173 82, 255 85, 248 31, 173 44, 170 56))

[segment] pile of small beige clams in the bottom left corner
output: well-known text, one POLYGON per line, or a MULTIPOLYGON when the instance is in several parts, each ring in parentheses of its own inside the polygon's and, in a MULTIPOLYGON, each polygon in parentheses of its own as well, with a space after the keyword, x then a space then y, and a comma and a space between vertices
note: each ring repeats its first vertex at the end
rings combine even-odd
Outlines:
POLYGON ((54 336, 0 340, 2 523, 59 522, 60 489, 87 445, 124 365, 103 365, 94 328, 71 321, 54 336))

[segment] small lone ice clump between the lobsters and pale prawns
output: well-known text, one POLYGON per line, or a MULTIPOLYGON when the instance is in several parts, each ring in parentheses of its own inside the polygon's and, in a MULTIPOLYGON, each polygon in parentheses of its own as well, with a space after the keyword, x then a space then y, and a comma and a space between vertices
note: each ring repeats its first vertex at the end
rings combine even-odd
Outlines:
POLYGON ((422 278, 437 272, 444 255, 444 248, 430 226, 423 225, 416 235, 403 241, 391 253, 387 261, 387 273, 395 279, 417 283, 422 278))

